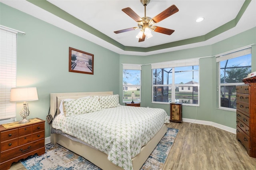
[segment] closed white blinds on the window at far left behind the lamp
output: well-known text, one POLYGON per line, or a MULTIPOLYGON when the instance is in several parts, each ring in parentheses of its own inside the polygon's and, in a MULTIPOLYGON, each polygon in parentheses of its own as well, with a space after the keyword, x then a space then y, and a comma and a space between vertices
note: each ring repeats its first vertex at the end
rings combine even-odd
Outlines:
POLYGON ((10 90, 16 87, 16 36, 0 27, 0 119, 16 117, 16 103, 10 103, 10 90))

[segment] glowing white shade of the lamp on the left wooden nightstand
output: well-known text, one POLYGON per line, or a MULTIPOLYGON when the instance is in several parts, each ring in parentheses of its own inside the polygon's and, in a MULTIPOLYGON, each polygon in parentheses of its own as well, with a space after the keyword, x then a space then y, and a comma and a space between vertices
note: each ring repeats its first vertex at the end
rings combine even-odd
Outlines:
POLYGON ((38 100, 36 87, 12 88, 10 102, 38 100))

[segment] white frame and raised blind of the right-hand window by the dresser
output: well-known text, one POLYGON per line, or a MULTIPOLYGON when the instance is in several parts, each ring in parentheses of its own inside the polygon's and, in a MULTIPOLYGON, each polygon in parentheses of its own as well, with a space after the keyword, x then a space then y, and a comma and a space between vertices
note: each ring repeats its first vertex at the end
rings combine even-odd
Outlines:
MULTIPOLYGON (((217 63, 217 68, 218 68, 218 106, 217 108, 218 109, 222 109, 222 110, 228 110, 228 111, 236 111, 235 108, 230 108, 230 107, 223 107, 221 106, 221 87, 223 86, 236 86, 236 85, 243 85, 244 83, 243 82, 240 82, 240 83, 221 83, 221 67, 220 67, 220 62, 221 61, 225 61, 225 60, 228 60, 228 59, 234 59, 236 57, 242 57, 244 55, 248 55, 248 54, 252 54, 252 46, 251 45, 248 45, 248 46, 245 46, 245 47, 242 47, 242 48, 239 48, 239 49, 234 49, 232 51, 228 51, 226 53, 221 53, 221 54, 218 54, 218 55, 215 55, 216 57, 216 63, 217 63), (243 51, 244 50, 244 51, 243 51)), ((250 65, 250 67, 252 67, 252 65, 250 65)))

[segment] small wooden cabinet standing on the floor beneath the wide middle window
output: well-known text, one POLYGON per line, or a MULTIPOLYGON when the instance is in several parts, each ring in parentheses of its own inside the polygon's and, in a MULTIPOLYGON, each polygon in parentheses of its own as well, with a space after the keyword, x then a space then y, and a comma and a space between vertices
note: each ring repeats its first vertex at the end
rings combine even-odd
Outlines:
POLYGON ((170 103, 170 121, 182 123, 182 103, 170 103))

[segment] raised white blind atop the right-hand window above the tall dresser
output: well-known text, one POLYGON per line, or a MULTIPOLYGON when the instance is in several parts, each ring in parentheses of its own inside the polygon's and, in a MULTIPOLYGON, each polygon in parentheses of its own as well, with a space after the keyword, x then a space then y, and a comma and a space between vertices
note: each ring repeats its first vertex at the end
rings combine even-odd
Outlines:
POLYGON ((227 59, 235 58, 235 57, 240 57, 243 55, 247 55, 252 53, 252 47, 243 47, 242 49, 236 49, 234 51, 230 51, 228 53, 223 53, 216 55, 216 62, 224 61, 227 59))

